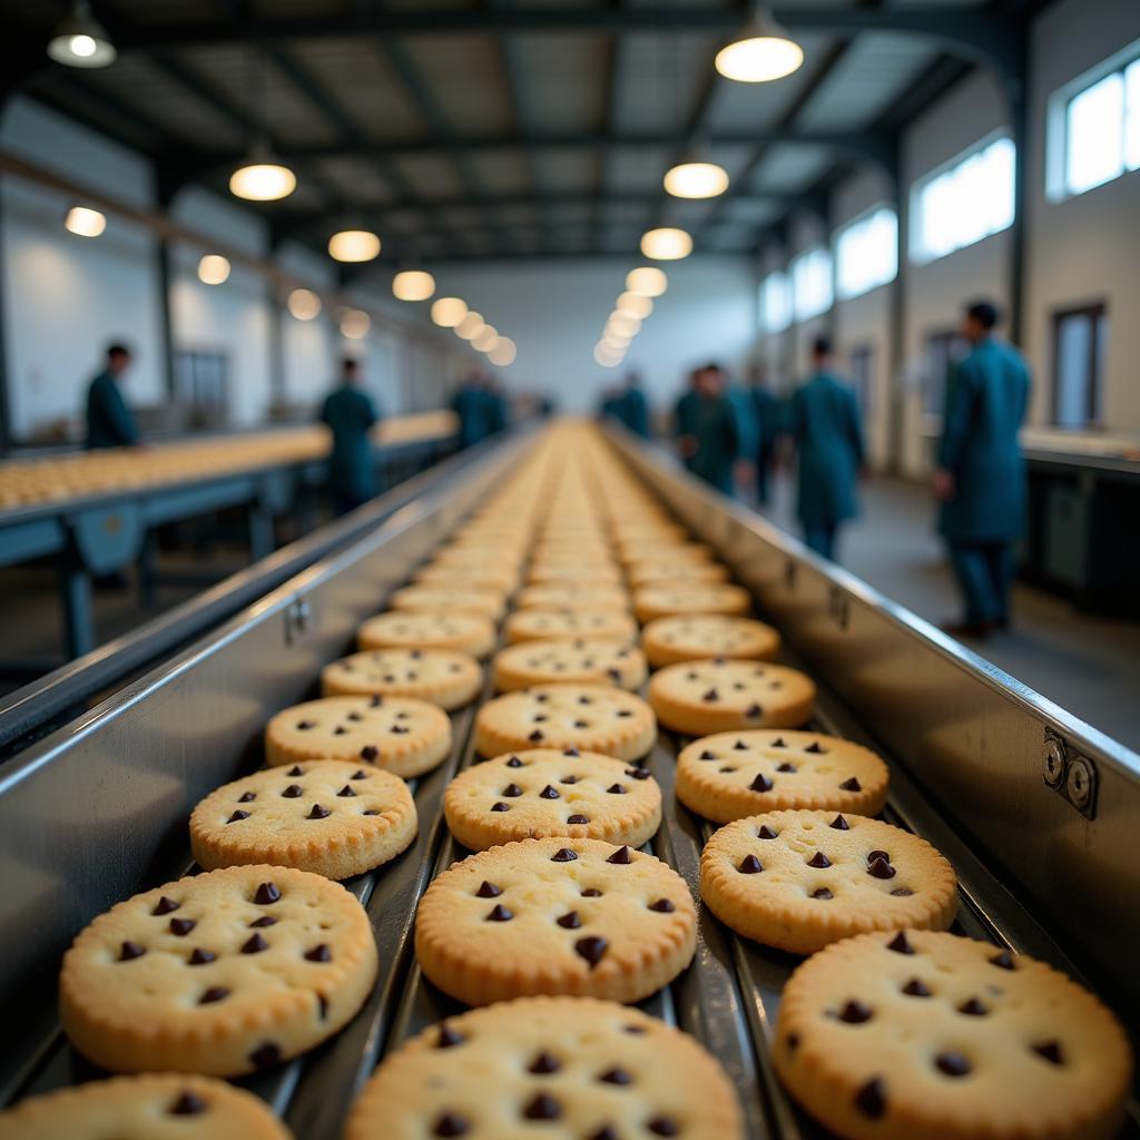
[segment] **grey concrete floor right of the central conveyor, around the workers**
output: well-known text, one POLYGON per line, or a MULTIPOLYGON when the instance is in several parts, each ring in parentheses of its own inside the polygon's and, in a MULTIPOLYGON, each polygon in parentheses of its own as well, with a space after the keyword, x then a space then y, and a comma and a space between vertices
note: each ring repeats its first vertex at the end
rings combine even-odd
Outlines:
MULTIPOLYGON (((789 480, 777 483, 775 502, 764 513, 784 529, 798 531, 789 480)), ((863 516, 841 536, 839 560, 929 621, 940 624, 961 616, 926 487, 873 479, 863 491, 863 516)), ((1062 598, 1019 585, 1013 628, 968 644, 1042 695, 1140 751, 1140 622, 1082 613, 1062 598)))

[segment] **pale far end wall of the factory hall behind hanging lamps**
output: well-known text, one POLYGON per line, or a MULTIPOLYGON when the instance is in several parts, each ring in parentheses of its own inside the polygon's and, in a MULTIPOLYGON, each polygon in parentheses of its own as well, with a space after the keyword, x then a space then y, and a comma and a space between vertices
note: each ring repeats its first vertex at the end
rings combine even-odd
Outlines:
POLYGON ((671 405, 685 374, 716 359, 740 372, 756 342, 755 267, 744 258, 693 256, 662 263, 669 288, 635 337, 621 368, 600 368, 594 344, 626 274, 636 262, 535 261, 447 267, 443 293, 455 293, 519 348, 503 369, 515 391, 536 391, 562 409, 592 410, 602 391, 628 368, 644 376, 658 408, 671 405))

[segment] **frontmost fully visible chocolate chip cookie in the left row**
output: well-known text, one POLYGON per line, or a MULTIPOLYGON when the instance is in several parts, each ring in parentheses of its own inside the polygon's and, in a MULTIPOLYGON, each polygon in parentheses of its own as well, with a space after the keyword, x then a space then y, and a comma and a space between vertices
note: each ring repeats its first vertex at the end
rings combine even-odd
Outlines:
POLYGON ((95 919, 64 955, 59 1011, 72 1044, 111 1072, 237 1076, 332 1036, 375 977, 372 923, 342 886, 233 866, 95 919))

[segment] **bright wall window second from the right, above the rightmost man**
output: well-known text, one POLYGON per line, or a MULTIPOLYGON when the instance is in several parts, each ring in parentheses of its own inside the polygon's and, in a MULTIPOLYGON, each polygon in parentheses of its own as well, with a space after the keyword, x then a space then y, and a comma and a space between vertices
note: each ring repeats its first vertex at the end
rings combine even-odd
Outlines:
POLYGON ((911 260, 944 258, 1013 221, 1013 141, 983 139, 911 192, 911 260))

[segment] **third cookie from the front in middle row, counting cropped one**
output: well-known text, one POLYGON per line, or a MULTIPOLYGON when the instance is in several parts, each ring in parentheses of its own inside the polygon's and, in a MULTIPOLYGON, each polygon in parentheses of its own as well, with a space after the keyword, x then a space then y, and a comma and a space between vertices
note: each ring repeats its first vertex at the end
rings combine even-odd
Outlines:
POLYGON ((443 796, 451 834, 471 850, 539 836, 641 847, 661 825, 649 768, 601 752, 532 748, 461 772, 443 796))

